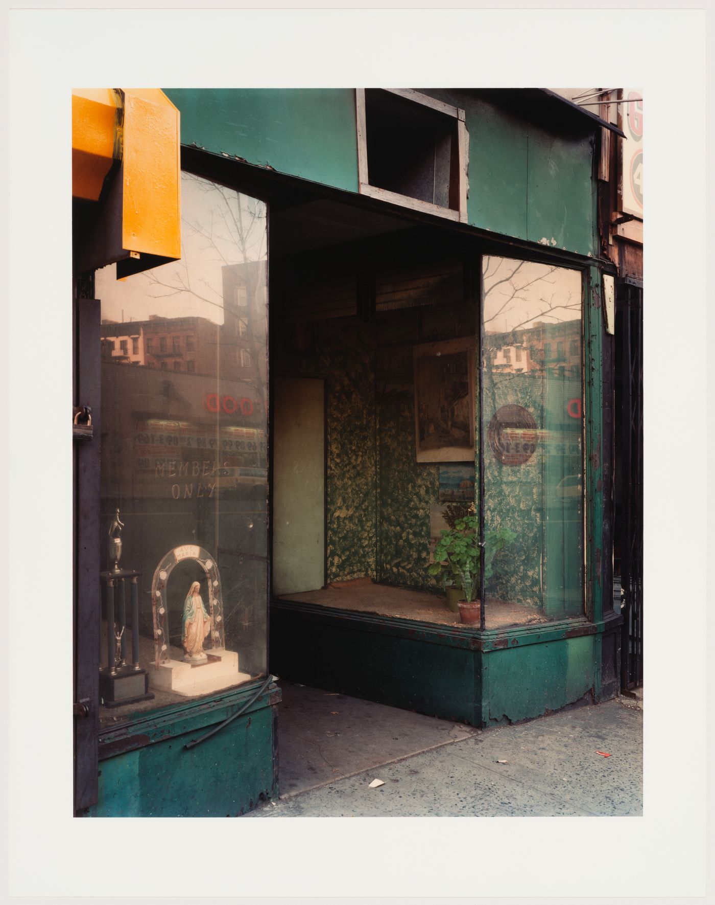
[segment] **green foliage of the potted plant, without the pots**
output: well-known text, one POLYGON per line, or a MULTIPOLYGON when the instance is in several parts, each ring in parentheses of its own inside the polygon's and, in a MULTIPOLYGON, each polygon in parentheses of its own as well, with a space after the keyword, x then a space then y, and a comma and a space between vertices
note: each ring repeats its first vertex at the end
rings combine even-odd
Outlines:
MULTIPOLYGON (((435 547, 435 561, 428 566, 428 574, 441 575, 443 582, 459 585, 466 600, 474 600, 479 587, 479 530, 476 515, 455 519, 454 527, 441 531, 435 547)), ((489 531, 485 538, 485 581, 494 576, 494 557, 516 538, 514 531, 500 528, 489 531)))

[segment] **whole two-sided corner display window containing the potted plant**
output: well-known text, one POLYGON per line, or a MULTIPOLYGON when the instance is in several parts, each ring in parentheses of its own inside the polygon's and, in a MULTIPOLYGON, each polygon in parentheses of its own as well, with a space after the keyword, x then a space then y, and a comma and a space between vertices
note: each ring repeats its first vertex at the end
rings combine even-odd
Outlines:
POLYGON ((581 271, 394 245, 284 278, 273 595, 479 628, 484 529, 486 629, 582 616, 581 271))

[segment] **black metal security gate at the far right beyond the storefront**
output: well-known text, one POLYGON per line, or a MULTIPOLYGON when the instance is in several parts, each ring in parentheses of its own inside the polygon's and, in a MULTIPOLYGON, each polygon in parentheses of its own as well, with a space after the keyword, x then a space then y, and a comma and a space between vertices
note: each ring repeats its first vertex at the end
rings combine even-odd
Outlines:
MULTIPOLYGON (((621 691, 643 685, 643 287, 616 283, 614 579, 620 579, 621 691)), ((616 591, 617 593, 617 591, 616 591)))

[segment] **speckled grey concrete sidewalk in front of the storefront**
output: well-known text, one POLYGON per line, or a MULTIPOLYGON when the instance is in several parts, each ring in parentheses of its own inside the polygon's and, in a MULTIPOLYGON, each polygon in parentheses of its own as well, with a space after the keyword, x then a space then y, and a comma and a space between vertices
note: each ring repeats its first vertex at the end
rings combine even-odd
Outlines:
MULTIPOLYGON (((334 710, 350 710, 355 699, 333 696, 324 700, 336 702, 334 710)), ((394 710, 366 701, 360 706, 394 710)), ((375 711, 380 718, 381 711, 375 711)), ((397 720, 404 719, 404 714, 394 711, 397 720)), ((409 718, 429 721, 428 738, 438 732, 436 724, 442 722, 417 714, 409 714, 409 718)), ((363 713, 362 725, 365 719, 363 713)), ((460 728, 466 732, 456 732, 453 727, 444 724, 442 738, 451 738, 446 744, 400 759, 384 757, 381 764, 373 757, 372 767, 328 779, 325 785, 307 791, 299 791, 294 775, 288 783, 292 794, 247 816, 615 816, 643 812, 643 712, 631 700, 561 710, 517 726, 484 731, 460 728), (370 788, 373 779, 381 779, 384 785, 370 788)), ((323 732, 322 726, 319 731, 323 732)), ((305 745, 304 731, 299 748, 303 750, 305 745)), ((358 748, 358 743, 353 747, 358 748)), ((338 769, 342 771, 342 767, 338 769)))

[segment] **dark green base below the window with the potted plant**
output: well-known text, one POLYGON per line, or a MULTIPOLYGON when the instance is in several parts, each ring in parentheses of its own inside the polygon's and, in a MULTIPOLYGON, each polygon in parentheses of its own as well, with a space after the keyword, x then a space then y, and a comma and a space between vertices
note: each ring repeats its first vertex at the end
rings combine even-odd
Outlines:
POLYGON ((520 637, 483 651, 471 630, 281 601, 270 608, 270 668, 287 681, 481 727, 539 717, 593 691, 593 626, 579 637, 520 637))

